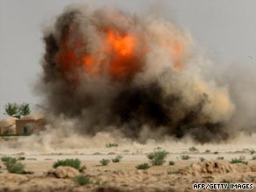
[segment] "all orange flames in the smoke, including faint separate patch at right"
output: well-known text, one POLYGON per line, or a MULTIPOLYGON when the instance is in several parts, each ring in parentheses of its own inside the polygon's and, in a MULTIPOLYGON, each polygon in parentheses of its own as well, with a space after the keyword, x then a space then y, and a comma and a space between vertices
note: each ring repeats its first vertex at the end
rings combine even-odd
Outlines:
MULTIPOLYGON (((91 53, 86 49, 88 42, 83 42, 77 33, 68 32, 63 36, 56 62, 65 77, 78 81, 82 72, 109 75, 112 80, 127 80, 143 68, 147 49, 138 35, 108 29, 100 38, 103 46, 96 47, 91 53)), ((173 68, 181 69, 184 57, 182 44, 168 37, 158 43, 167 52, 173 68)))

